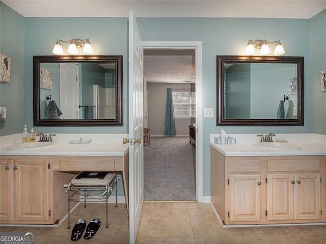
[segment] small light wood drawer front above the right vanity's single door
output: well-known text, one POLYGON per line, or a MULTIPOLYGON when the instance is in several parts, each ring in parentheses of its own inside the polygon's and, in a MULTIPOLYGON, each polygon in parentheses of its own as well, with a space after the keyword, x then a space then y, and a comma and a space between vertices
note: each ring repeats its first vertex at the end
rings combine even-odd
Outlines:
POLYGON ((229 173, 260 172, 260 160, 229 160, 229 173))

